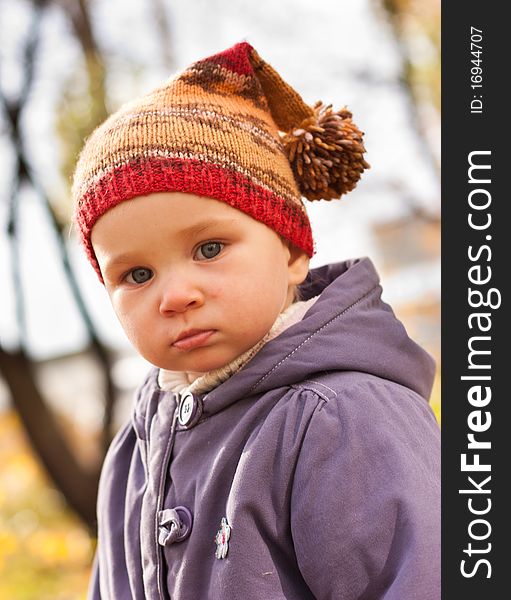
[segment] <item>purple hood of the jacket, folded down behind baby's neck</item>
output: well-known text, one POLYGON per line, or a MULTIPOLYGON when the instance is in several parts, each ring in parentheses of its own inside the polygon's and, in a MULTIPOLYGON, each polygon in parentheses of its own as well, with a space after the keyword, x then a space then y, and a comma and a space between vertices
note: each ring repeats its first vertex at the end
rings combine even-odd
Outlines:
MULTIPOLYGON (((369 258, 311 269, 300 293, 302 300, 319 298, 301 321, 269 341, 243 369, 203 396, 205 413, 216 413, 240 397, 292 386, 325 371, 368 373, 429 398, 434 360, 410 339, 381 299, 378 273, 369 258)), ((148 383, 157 386, 156 379, 157 369, 148 383)))

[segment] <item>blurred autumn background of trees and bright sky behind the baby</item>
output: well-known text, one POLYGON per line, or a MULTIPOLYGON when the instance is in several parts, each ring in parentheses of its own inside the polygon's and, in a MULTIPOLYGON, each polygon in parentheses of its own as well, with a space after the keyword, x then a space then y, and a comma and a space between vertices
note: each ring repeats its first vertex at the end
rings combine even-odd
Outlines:
POLYGON ((440 421, 439 0, 0 0, 0 600, 85 598, 100 466, 148 367, 69 225, 83 140, 245 39, 365 131, 357 188, 308 206, 312 266, 372 258, 437 360, 440 421))

